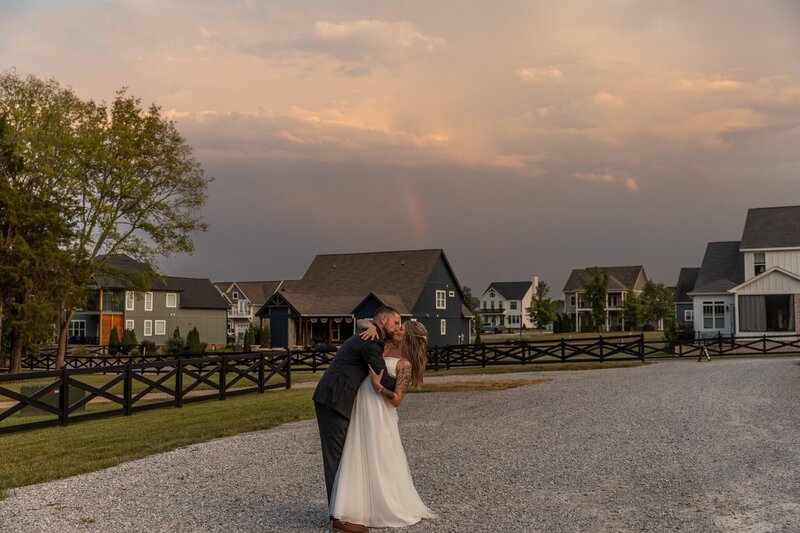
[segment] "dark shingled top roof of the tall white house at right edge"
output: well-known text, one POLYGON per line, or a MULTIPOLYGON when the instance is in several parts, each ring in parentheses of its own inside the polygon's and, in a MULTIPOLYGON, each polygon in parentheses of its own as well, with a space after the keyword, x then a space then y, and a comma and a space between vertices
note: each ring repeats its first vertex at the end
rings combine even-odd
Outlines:
POLYGON ((741 250, 800 248, 800 206, 747 210, 741 250))

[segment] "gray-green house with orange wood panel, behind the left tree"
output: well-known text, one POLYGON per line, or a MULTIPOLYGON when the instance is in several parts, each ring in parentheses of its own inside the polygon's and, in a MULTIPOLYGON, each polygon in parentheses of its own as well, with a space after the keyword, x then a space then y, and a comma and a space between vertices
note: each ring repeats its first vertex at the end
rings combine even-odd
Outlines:
MULTIPOLYGON (((108 258, 117 270, 144 272, 146 266, 126 255, 108 258)), ((132 329, 139 342, 164 344, 179 328, 186 334, 197 328, 200 340, 212 348, 225 346, 228 304, 208 279, 164 276, 150 282, 149 290, 131 290, 119 276, 95 276, 96 290, 70 323, 73 343, 108 344, 111 330, 118 335, 132 329)))

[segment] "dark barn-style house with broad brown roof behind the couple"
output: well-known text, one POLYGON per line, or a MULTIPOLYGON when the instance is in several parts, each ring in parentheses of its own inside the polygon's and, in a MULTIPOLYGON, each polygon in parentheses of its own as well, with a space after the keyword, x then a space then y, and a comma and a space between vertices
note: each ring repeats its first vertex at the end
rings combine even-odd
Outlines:
POLYGON ((469 342, 472 316, 441 249, 318 255, 256 316, 269 319, 274 348, 338 345, 381 305, 424 324, 430 346, 469 342))

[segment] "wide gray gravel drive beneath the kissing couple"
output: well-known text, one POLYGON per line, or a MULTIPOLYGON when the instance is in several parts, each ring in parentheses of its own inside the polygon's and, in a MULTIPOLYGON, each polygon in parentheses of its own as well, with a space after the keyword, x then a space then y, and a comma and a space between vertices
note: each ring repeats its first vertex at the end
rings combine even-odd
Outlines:
MULTIPOLYGON (((402 531, 800 531, 797 363, 661 362, 413 394, 401 432, 439 518, 402 531)), ((320 532, 324 495, 307 421, 10 491, 0 530, 320 532)))

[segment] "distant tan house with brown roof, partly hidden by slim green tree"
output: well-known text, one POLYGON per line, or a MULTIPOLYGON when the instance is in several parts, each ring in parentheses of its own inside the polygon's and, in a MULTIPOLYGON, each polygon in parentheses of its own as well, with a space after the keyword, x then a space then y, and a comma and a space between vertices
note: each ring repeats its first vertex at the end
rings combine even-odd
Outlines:
MULTIPOLYGON (((631 292, 641 293, 647 283, 647 274, 642 265, 596 267, 608 273, 606 289, 606 322, 605 331, 621 331, 625 329, 622 312, 625 298, 631 292)), ((588 268, 575 269, 564 284, 564 312, 575 321, 575 329, 581 331, 581 322, 591 313, 586 298, 584 281, 591 279, 588 268)))

